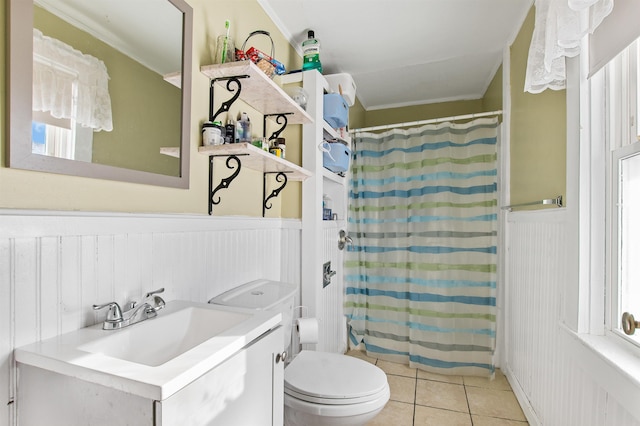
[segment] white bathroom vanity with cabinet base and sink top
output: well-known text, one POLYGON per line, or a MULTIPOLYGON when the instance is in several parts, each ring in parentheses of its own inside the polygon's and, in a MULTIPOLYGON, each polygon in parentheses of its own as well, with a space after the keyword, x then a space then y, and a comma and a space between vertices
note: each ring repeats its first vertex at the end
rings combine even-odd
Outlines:
POLYGON ((282 425, 281 314, 168 302, 16 349, 19 425, 282 425))

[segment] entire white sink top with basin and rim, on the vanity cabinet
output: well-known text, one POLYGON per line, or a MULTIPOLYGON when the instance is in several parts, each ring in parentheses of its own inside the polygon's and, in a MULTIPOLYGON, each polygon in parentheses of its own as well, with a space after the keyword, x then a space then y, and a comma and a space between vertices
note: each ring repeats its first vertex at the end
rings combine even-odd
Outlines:
POLYGON ((158 316, 119 330, 102 324, 15 350, 20 364, 158 401, 215 368, 281 314, 207 303, 167 302, 158 316))

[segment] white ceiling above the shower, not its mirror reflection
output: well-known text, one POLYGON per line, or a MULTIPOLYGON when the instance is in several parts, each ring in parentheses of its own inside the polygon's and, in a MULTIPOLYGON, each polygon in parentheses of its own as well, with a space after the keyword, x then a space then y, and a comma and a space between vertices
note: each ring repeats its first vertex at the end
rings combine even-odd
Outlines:
POLYGON ((533 0, 258 0, 324 74, 351 74, 366 110, 479 99, 533 0))

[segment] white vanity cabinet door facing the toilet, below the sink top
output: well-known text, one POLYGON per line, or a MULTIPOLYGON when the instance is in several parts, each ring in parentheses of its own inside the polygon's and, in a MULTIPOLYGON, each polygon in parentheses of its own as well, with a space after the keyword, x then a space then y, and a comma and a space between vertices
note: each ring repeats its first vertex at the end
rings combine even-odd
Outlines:
POLYGON ((155 402, 157 426, 281 426, 282 327, 264 334, 171 397, 155 402))

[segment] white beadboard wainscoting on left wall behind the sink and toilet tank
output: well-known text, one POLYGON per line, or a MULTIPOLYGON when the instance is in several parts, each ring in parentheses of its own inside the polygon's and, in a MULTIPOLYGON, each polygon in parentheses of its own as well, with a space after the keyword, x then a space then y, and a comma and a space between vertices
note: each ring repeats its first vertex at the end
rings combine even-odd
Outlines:
POLYGON ((0 425, 15 425, 13 349, 102 321, 91 305, 207 302, 266 278, 300 285, 298 220, 0 211, 0 425))

